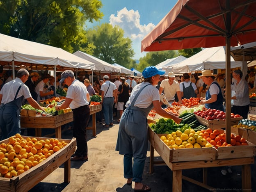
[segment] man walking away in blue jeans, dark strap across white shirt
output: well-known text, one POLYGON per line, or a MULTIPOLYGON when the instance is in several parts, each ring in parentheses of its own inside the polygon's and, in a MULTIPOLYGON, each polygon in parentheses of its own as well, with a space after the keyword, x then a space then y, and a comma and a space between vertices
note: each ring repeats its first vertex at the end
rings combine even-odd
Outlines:
POLYGON ((103 76, 104 83, 101 85, 101 102, 105 124, 103 127, 113 126, 113 104, 117 102, 117 87, 110 82, 107 75, 103 76))

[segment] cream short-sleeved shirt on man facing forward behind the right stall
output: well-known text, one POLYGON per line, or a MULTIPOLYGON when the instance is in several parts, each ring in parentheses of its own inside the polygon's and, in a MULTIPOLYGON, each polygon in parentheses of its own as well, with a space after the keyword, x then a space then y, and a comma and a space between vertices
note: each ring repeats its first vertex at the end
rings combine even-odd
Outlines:
POLYGON ((160 87, 165 91, 165 97, 167 101, 174 100, 174 96, 177 91, 181 91, 178 82, 174 81, 171 85, 169 84, 169 79, 162 80, 160 87))

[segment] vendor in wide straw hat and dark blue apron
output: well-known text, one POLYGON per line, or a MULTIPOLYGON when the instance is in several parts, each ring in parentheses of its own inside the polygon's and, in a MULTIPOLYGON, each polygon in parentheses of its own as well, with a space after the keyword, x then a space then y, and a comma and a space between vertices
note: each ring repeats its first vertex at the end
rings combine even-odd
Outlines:
POLYGON ((214 80, 216 76, 210 70, 203 70, 202 75, 199 76, 206 85, 209 85, 206 97, 202 98, 200 104, 205 104, 208 109, 224 111, 222 91, 219 84, 214 80))

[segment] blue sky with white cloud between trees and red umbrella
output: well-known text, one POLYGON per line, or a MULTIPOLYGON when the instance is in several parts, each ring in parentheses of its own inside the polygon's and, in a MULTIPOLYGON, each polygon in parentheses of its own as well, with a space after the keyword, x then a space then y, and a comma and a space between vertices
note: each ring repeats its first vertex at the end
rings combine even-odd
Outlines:
POLYGON ((87 28, 110 23, 119 25, 124 36, 133 41, 135 55, 139 59, 146 55, 140 53, 142 39, 164 18, 176 4, 177 0, 101 0, 100 9, 104 17, 99 22, 87 23, 87 28))

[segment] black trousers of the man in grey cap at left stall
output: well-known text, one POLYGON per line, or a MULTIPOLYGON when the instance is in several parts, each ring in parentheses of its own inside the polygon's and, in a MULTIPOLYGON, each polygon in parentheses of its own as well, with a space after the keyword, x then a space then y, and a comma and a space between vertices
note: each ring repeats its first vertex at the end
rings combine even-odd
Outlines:
POLYGON ((85 157, 88 155, 87 139, 86 139, 86 127, 90 118, 89 105, 84 105, 73 111, 73 137, 76 138, 77 149, 75 155, 85 157))

